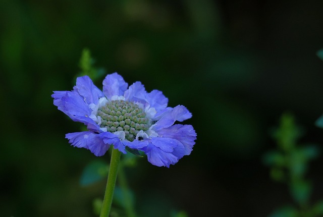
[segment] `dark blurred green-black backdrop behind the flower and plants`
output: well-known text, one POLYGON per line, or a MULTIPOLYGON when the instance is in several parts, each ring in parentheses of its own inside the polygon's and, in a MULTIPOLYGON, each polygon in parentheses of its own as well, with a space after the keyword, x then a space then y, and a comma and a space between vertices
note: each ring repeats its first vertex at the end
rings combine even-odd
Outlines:
MULTIPOLYGON (((79 185, 96 157, 68 144, 82 124, 50 97, 72 89, 84 47, 106 73, 193 114, 191 155, 170 169, 143 158, 127 171, 139 214, 258 217, 292 204, 261 156, 275 148, 268 132, 286 111, 306 130, 302 141, 323 144, 314 125, 322 27, 322 1, 2 1, 0 216, 94 216, 105 181, 79 185)), ((322 164, 320 155, 308 171, 313 202, 323 196, 322 164)))

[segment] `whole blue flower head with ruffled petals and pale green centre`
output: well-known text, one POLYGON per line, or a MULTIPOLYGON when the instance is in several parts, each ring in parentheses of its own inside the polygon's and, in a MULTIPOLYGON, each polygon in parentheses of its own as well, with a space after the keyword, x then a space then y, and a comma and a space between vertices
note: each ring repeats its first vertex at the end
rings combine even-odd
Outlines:
POLYGON ((189 155, 195 144, 191 125, 174 125, 192 117, 185 106, 167 107, 161 91, 147 93, 140 82, 128 87, 117 73, 105 77, 103 91, 83 76, 72 91, 53 91, 51 96, 58 110, 87 127, 88 131, 66 134, 69 143, 96 156, 110 145, 123 153, 128 147, 144 151, 152 165, 169 167, 189 155))

